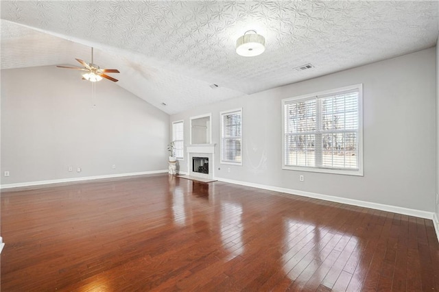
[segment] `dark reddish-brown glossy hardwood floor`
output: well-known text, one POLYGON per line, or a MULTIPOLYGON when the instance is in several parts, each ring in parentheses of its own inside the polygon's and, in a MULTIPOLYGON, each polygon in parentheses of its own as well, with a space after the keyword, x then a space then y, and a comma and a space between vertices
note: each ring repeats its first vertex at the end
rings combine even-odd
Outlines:
POLYGON ((150 175, 1 193, 1 291, 439 291, 431 220, 150 175))

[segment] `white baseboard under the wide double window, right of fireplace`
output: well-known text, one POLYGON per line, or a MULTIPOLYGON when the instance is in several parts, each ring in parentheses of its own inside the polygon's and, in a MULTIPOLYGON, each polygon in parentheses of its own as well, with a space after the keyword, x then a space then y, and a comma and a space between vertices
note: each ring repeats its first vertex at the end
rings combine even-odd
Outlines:
MULTIPOLYGON (((409 209, 409 208, 403 208, 398 206, 390 206, 390 205, 384 205, 384 204, 378 204, 378 203, 372 203, 372 202, 365 202, 365 201, 359 201, 357 199, 347 199, 344 197, 335 197, 332 195, 322 195, 319 193, 311 193, 307 191, 298 191, 293 190, 291 188, 281 188, 278 186, 267 186, 265 184, 254 184, 252 182, 242 182, 239 180, 228 180, 226 178, 215 178, 215 180, 218 180, 219 182, 228 182, 229 184, 240 184, 241 186, 250 186, 252 188, 262 188, 264 190, 268 191, 276 191, 279 193, 287 193, 291 195, 300 195, 302 197, 312 197, 314 199, 323 199, 325 201, 330 202, 337 202, 347 205, 353 205, 353 206, 359 206, 364 208, 371 208, 376 210, 382 210, 387 212, 394 212, 399 213, 403 215, 409 215, 414 217, 420 217, 425 219, 433 219, 434 212, 427 212, 423 210, 416 210, 416 209, 409 209)), ((436 235, 438 234, 438 230, 436 229, 436 235)))

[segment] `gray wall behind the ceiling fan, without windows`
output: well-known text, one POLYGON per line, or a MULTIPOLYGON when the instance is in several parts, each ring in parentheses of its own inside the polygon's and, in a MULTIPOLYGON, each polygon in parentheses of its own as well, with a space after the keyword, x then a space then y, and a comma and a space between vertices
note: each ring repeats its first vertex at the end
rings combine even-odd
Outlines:
POLYGON ((93 108, 91 88, 56 66, 1 71, 1 184, 167 169, 169 115, 108 80, 93 108))

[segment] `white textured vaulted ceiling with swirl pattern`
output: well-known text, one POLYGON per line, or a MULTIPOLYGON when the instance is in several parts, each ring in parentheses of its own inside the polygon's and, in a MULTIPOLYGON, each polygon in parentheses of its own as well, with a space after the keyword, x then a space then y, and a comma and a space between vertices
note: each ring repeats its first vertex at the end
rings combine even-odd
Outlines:
POLYGON ((95 63, 121 71, 119 86, 169 114, 432 47, 438 36, 437 1, 1 1, 1 19, 2 69, 90 62, 93 46, 95 63), (261 56, 235 53, 248 29, 265 36, 261 56), (294 70, 307 63, 315 68, 294 70))

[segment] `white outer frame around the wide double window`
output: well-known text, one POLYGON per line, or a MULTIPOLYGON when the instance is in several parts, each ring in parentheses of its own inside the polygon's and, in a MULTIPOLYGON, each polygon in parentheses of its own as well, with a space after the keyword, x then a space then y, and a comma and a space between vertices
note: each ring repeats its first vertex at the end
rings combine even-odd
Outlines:
MULTIPOLYGON (((281 102, 282 111, 282 169, 294 170, 294 171, 311 171, 317 173, 335 173, 342 175, 358 175, 363 176, 363 84, 355 84, 352 86, 345 86, 341 88, 334 88, 331 90, 324 90, 318 93, 312 93, 309 95, 300 95, 297 97, 289 97, 287 99, 282 99, 281 102), (298 101, 300 99, 311 99, 322 95, 331 95, 333 93, 338 93, 346 90, 357 89, 358 94, 358 169, 329 169, 322 167, 302 167, 302 166, 290 166, 285 165, 285 105, 291 104, 291 101, 298 101)), ((319 118, 317 118, 319 119, 319 118)), ((318 149, 318 147, 316 147, 318 149)), ((318 155, 316 155, 318 156, 318 155)))

